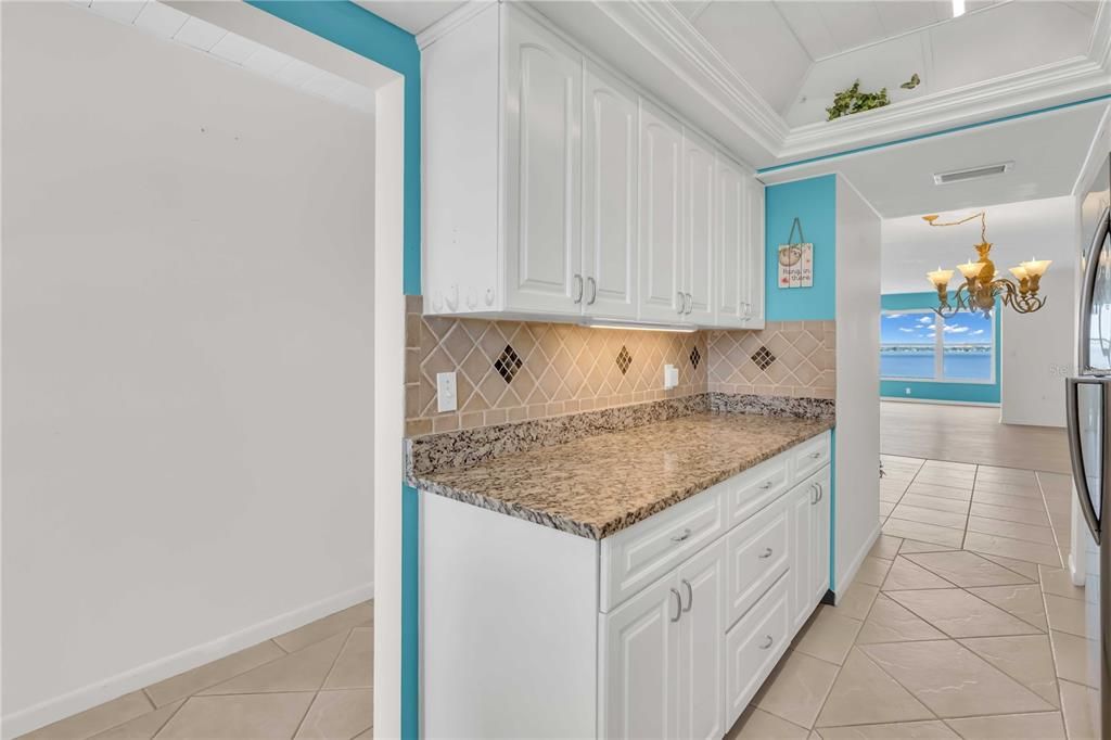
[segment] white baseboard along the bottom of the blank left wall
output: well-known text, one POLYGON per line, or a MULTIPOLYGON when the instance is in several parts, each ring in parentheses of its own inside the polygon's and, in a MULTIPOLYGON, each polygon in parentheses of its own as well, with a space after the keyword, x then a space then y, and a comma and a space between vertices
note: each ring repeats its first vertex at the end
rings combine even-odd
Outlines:
POLYGON ((372 582, 366 583, 304 607, 299 607, 284 614, 266 619, 238 632, 232 632, 216 640, 182 650, 172 656, 159 658, 142 666, 137 666, 131 670, 117 673, 102 681, 90 683, 53 699, 41 701, 27 709, 4 714, 0 718, 0 738, 10 740, 11 738, 37 730, 40 727, 46 727, 51 722, 57 722, 60 719, 72 717, 78 712, 83 712, 117 697, 122 697, 126 693, 137 691, 151 683, 157 683, 171 676, 177 676, 198 666, 203 666, 219 658, 230 656, 252 644, 278 637, 298 627, 303 627, 321 617, 327 617, 348 607, 353 607, 357 603, 372 599, 373 596, 374 584, 372 582))

